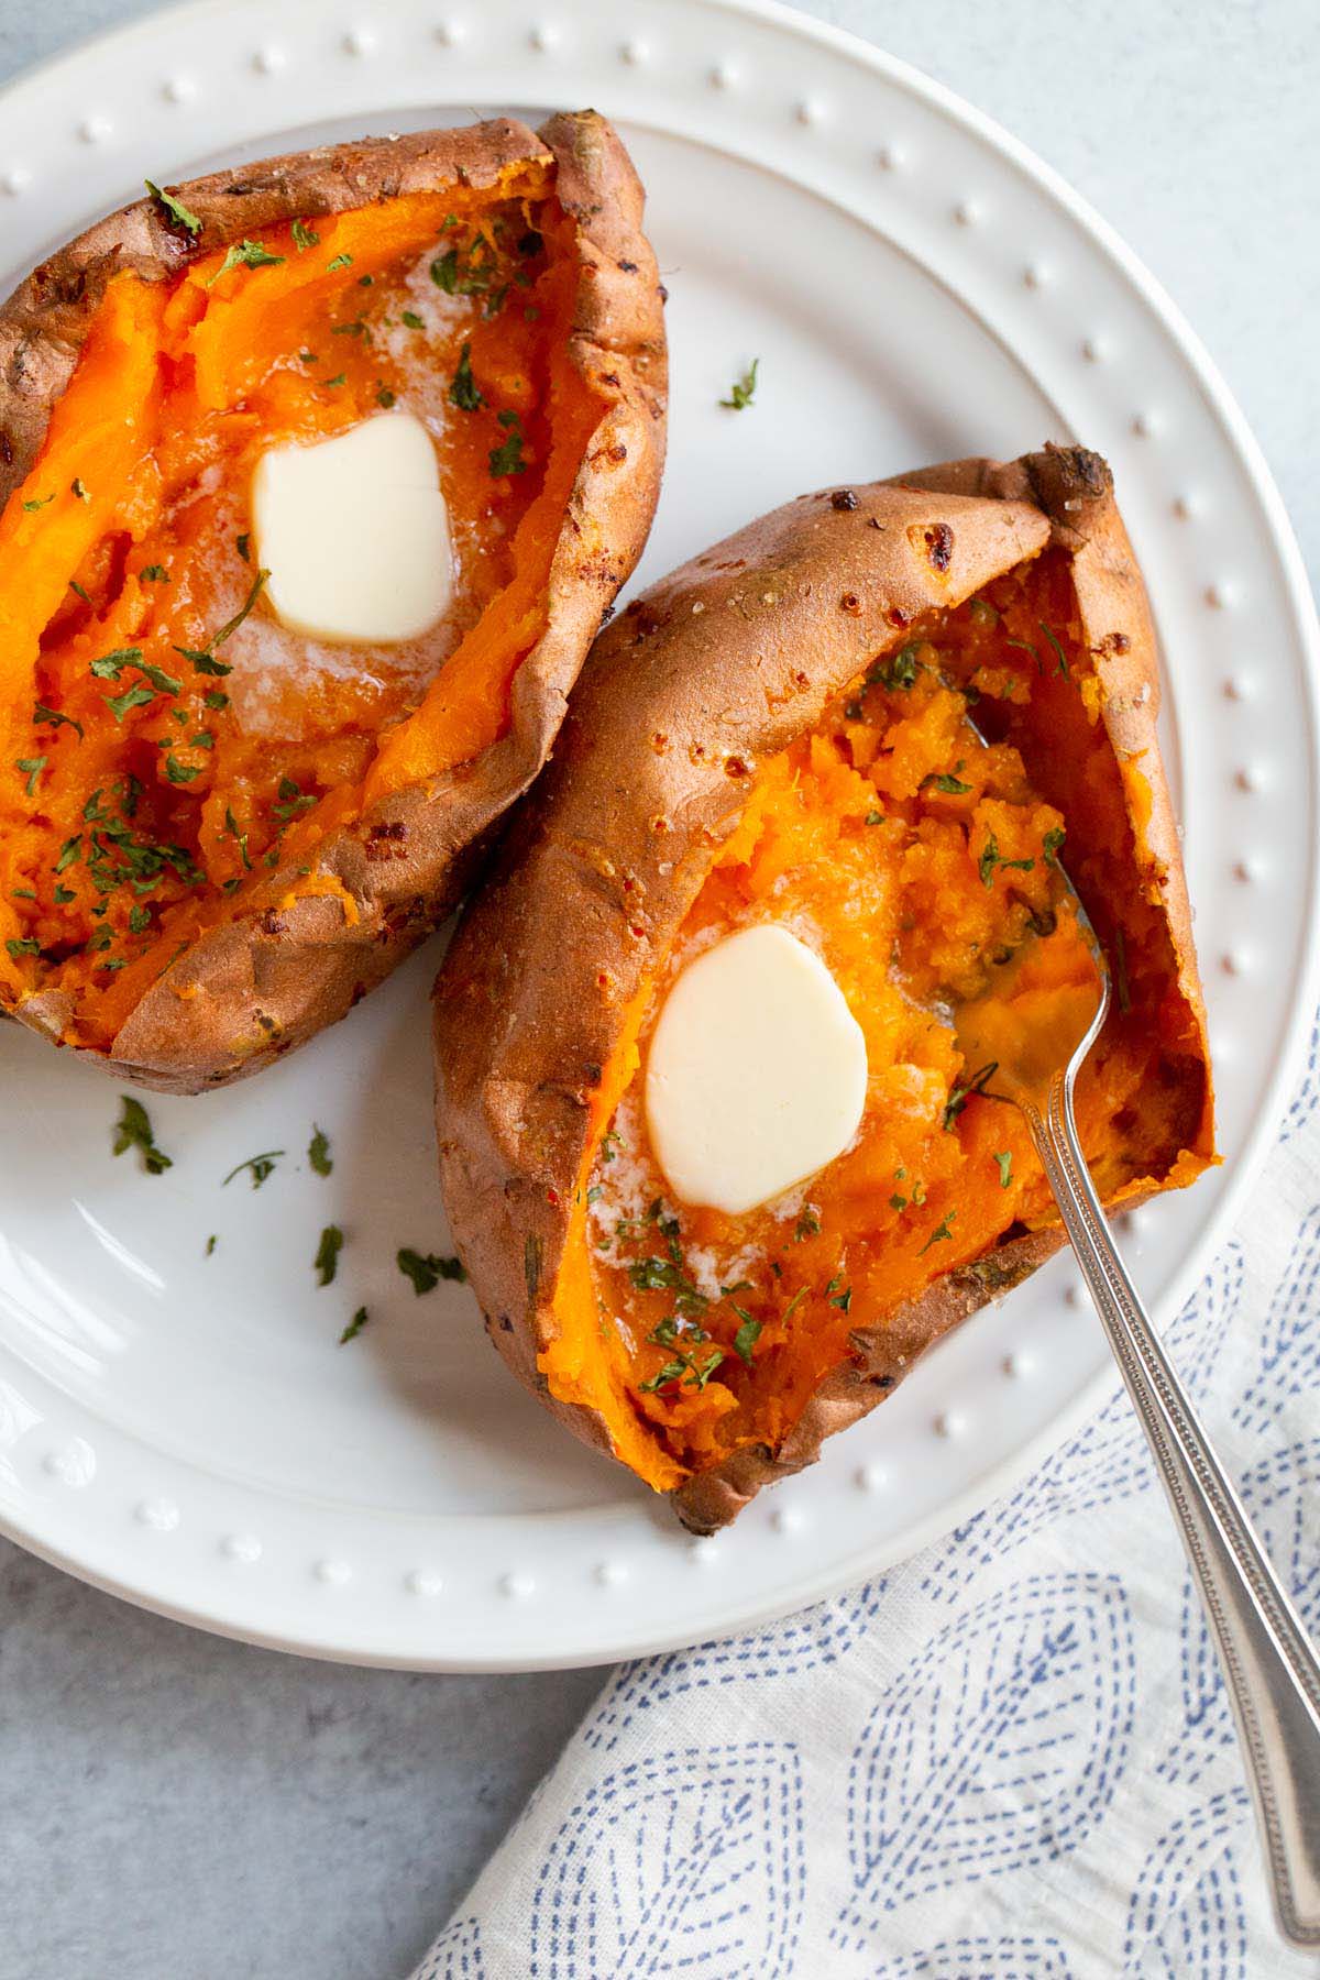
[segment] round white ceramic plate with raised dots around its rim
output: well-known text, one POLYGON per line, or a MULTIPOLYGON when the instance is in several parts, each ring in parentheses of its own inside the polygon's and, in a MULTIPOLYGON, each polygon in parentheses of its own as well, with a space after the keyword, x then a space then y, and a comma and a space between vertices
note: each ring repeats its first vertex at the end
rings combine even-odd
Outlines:
MULTIPOLYGON (((671 293, 669 475, 643 580, 821 483, 1045 436, 1114 465, 1168 661, 1229 1150, 1128 1220, 1168 1317, 1241 1200, 1310 1010, 1316 628, 1241 416, 1065 186, 942 89, 784 10, 212 0, 0 99, 0 273, 144 176, 479 105, 582 103, 623 127, 671 293), (756 408, 720 412, 754 356, 756 408)), ((871 1574, 984 1505, 1094 1398, 1106 1350, 1057 1261, 732 1533, 685 1538, 511 1382, 465 1291, 416 1299, 394 1267, 398 1245, 447 1247, 435 958, 255 1083, 152 1101, 174 1156, 160 1178, 111 1160, 111 1085, 4 1028, 0 1517, 28 1546, 317 1655, 590 1663, 871 1574), (329 1180, 305 1160, 313 1121, 334 1142, 329 1180), (220 1186, 263 1148, 289 1156, 259 1192, 220 1186), (330 1222, 348 1245, 321 1291, 330 1222), (360 1303, 372 1321, 338 1346, 360 1303)))

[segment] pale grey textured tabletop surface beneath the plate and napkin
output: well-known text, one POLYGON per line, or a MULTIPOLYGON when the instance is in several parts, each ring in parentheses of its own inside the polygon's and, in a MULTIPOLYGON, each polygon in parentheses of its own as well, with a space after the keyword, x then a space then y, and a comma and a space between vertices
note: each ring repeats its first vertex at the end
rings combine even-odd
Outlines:
MULTIPOLYGON (((0 0, 0 81, 142 12, 0 0)), ((1128 238, 1237 392, 1314 574, 1312 0, 813 12, 972 97, 1128 238)), ((0 1980, 402 1976, 598 1683, 303 1663, 0 1542, 0 1980)))

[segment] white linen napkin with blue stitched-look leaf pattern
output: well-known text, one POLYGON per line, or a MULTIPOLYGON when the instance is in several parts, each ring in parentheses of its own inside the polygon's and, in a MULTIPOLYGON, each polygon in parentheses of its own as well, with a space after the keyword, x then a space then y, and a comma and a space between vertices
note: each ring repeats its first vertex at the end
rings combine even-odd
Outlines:
MULTIPOLYGON (((1320 1028, 1170 1348, 1320 1626, 1320 1028)), ((1124 1394, 1011 1497, 623 1665, 414 1980, 1314 1980, 1124 1394)))

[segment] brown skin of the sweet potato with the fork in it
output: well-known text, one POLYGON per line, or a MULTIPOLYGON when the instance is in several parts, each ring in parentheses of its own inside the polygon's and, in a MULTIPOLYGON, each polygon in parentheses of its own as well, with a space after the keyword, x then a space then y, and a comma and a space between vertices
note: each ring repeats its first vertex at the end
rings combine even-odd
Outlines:
MULTIPOLYGON (((867 659, 902 644, 916 614, 960 604, 1049 543, 1073 556, 1110 739, 1146 750, 1148 879, 1203 1028, 1156 748, 1154 630, 1096 455, 1047 447, 801 497, 661 580, 596 642, 554 762, 443 964, 435 1065, 441 1180, 487 1329, 515 1374, 598 1449, 612 1447, 608 1426, 548 1394, 536 1356, 554 1329, 592 1091, 623 1012, 683 923, 710 845, 738 822, 756 762, 815 725, 867 659)), ((924 1348, 1061 1241, 1057 1232, 1007 1239, 883 1329, 857 1329, 851 1358, 817 1384, 784 1443, 744 1447, 687 1479, 671 1495, 679 1519, 710 1533, 762 1485, 811 1463, 924 1348)))

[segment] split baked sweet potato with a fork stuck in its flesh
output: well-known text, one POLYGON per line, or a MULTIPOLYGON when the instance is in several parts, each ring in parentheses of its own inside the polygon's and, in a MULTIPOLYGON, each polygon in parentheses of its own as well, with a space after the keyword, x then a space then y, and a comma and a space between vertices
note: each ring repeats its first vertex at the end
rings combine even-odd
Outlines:
POLYGON ((1061 1243, 1021 1117, 948 1020, 1027 940, 1037 988, 1069 982, 1051 861, 1116 986, 1077 1093, 1096 1186, 1134 1204, 1213 1160, 1158 699, 1081 449, 805 495, 598 640, 437 982, 441 1176, 513 1370, 691 1529, 1061 1243), (760 921, 817 946, 869 1085, 837 1160, 728 1216, 667 1192, 641 1069, 685 962, 760 921))

